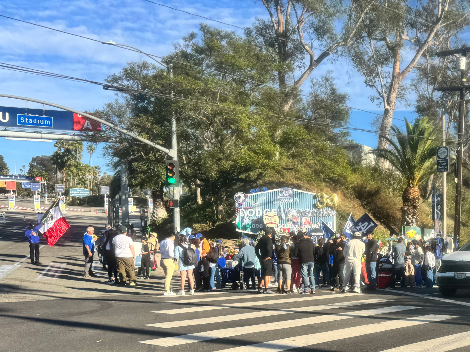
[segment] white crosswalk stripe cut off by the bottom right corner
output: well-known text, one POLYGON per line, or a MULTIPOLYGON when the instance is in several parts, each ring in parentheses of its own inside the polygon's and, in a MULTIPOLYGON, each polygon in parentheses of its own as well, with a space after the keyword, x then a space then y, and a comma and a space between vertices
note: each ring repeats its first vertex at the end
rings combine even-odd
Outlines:
POLYGON ((407 344, 406 346, 395 347, 381 352, 446 352, 466 346, 470 346, 470 331, 416 342, 415 344, 407 344))

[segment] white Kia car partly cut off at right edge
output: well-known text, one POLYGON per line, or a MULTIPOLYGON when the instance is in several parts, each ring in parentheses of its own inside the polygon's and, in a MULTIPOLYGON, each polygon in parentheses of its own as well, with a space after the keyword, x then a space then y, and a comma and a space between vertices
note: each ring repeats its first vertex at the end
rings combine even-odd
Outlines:
POLYGON ((470 290, 470 241, 442 257, 436 281, 444 296, 454 296, 458 289, 470 290))

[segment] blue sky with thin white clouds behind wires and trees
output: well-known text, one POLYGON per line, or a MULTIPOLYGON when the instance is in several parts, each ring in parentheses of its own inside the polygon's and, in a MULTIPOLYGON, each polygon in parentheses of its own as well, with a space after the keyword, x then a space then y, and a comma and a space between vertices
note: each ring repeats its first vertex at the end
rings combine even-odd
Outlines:
MULTIPOLYGON (((158 1, 156 1, 158 2, 158 1)), ((219 1, 168 1, 160 2, 188 12, 204 15, 240 27, 250 26, 255 17, 265 17, 261 2, 253 0, 219 1)), ((1 1, 0 14, 39 23, 63 31, 71 31, 102 41, 136 46, 152 54, 164 56, 171 52, 172 43, 191 31, 197 31, 199 23, 206 22, 215 27, 242 30, 211 23, 201 18, 151 4, 143 0, 16 0, 1 1)), ((0 18, 0 61, 10 64, 57 72, 64 75, 102 81, 118 72, 127 62, 144 59, 145 56, 106 46, 83 38, 42 29, 10 19, 0 18)), ((322 63, 312 77, 320 77, 333 70, 340 91, 350 95, 349 105, 381 114, 383 110, 370 102, 373 92, 365 87, 363 79, 345 58, 322 63)), ((410 75, 412 76, 412 75, 410 75)), ((39 77, 26 73, 0 70, 0 92, 55 102, 78 110, 93 111, 113 99, 112 92, 101 87, 39 77)), ((308 89, 308 83, 304 84, 308 89)), ((24 102, 0 98, 0 106, 24 107, 24 102)), ((28 107, 42 108, 28 103, 28 107)), ((46 107, 47 108, 47 107, 46 107)), ((411 108, 397 107, 396 117, 415 118, 411 108)), ((371 129, 373 114, 352 111, 352 125, 371 129)), ((396 121, 397 125, 404 122, 396 121)), ((375 146, 376 136, 364 132, 352 132, 352 138, 362 144, 375 146)), ((36 155, 47 155, 54 151, 53 143, 16 141, 0 138, 0 154, 4 156, 10 170, 16 172, 28 165, 36 155)), ((83 162, 88 162, 88 154, 83 162)), ((108 173, 107 161, 102 156, 101 146, 93 156, 93 165, 100 165, 108 173)))

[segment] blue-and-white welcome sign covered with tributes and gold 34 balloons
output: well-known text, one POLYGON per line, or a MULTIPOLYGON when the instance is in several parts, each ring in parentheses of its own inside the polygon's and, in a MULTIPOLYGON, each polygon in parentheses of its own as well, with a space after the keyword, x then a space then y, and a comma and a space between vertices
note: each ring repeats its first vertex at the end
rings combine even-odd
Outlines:
MULTIPOLYGON (((320 195, 320 193, 319 193, 320 195)), ((236 230, 257 234, 266 226, 286 232, 320 229, 321 220, 336 230, 336 210, 321 204, 315 193, 280 188, 235 194, 236 230), (318 205, 318 206, 317 206, 318 205)))

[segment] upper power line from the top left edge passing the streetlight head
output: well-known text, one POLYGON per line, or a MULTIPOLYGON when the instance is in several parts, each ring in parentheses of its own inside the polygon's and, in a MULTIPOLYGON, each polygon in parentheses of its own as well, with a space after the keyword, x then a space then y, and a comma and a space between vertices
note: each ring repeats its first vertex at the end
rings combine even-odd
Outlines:
MULTIPOLYGON (((148 1, 148 2, 154 3, 153 1, 149 1, 149 0, 144 0, 144 1, 148 1)), ((157 3, 155 3, 155 4, 157 4, 157 3)), ((161 4, 157 4, 157 5, 161 5, 161 4)), ((171 7, 166 6, 166 5, 161 5, 161 6, 171 8, 171 7)), ((172 8, 172 9, 174 9, 174 8, 172 8)), ((178 10, 178 11, 182 11, 182 10, 179 10, 179 9, 177 9, 177 10, 178 10)), ((185 11, 183 11, 183 12, 185 12, 185 11)), ((188 14, 190 14, 190 13, 188 12, 188 14)), ((192 14, 191 14, 191 15, 192 15, 192 14)), ((199 15, 197 15, 197 16, 199 16, 199 15)), ((57 32, 60 32, 60 33, 63 33, 63 34, 69 34, 69 35, 72 35, 72 36, 75 36, 75 37, 79 37, 79 38, 84 38, 84 39, 92 40, 92 41, 94 41, 94 42, 98 42, 98 43, 101 43, 101 44, 112 44, 113 46, 118 46, 118 47, 120 47, 120 48, 122 48, 122 49, 125 49, 125 50, 129 50, 129 51, 133 51, 133 52, 136 52, 136 53, 144 54, 144 55, 146 55, 146 56, 149 56, 150 58, 157 57, 157 58, 162 59, 162 60, 180 63, 180 64, 187 65, 187 66, 190 66, 190 67, 194 67, 194 68, 197 68, 197 69, 203 69, 203 70, 206 70, 206 71, 210 71, 210 72, 213 72, 213 73, 217 73, 217 74, 220 74, 220 75, 224 75, 224 76, 227 76, 227 77, 233 77, 233 78, 241 79, 241 80, 244 80, 244 81, 246 81, 246 82, 250 82, 250 83, 254 83, 254 84, 264 85, 264 86, 266 86, 266 87, 271 87, 271 88, 274 88, 274 89, 276 89, 276 90, 280 90, 280 91, 282 91, 282 92, 288 92, 288 93, 296 94, 296 95, 298 95, 298 96, 303 96, 303 97, 306 97, 306 98, 309 98, 309 99, 321 100, 321 101, 328 102, 328 103, 331 103, 331 104, 335 104, 335 105, 338 105, 338 106, 341 106, 341 107, 345 107, 345 108, 348 108, 348 109, 354 109, 354 110, 357 110, 357 111, 365 112, 365 113, 368 113, 368 114, 373 114, 373 115, 376 115, 376 116, 384 116, 383 114, 379 114, 379 113, 376 113, 376 112, 373 112, 373 111, 368 111, 368 110, 360 109, 360 108, 358 108, 358 107, 352 107, 352 106, 348 106, 348 105, 345 105, 345 104, 337 103, 337 102, 335 102, 335 101, 330 101, 330 100, 326 100, 326 99, 321 99, 321 98, 318 98, 318 97, 312 97, 312 96, 310 96, 310 95, 302 94, 302 93, 299 93, 299 92, 293 92, 293 91, 290 91, 290 90, 287 90, 287 89, 283 89, 283 88, 280 88, 280 87, 276 87, 276 86, 271 85, 271 84, 266 84, 266 83, 262 83, 262 82, 257 82, 257 81, 253 81, 253 80, 250 80, 250 79, 247 79, 247 78, 238 77, 238 76, 231 75, 231 74, 228 74, 228 73, 220 72, 220 71, 217 71, 217 70, 208 69, 208 68, 204 68, 204 67, 201 67, 201 66, 196 66, 196 65, 190 64, 190 63, 188 63, 188 62, 177 61, 177 60, 173 60, 173 59, 170 59, 170 58, 165 58, 165 57, 163 57, 163 56, 159 56, 159 55, 155 55, 155 54, 146 53, 146 52, 144 52, 144 51, 141 51, 141 50, 136 49, 136 48, 133 48, 133 47, 126 46, 126 45, 124 45, 124 44, 116 44, 116 43, 112 43, 112 42, 103 42, 103 41, 100 41, 100 40, 97 40, 97 39, 93 39, 93 38, 81 36, 81 35, 78 35, 78 34, 75 34, 75 33, 71 33, 71 32, 66 32, 66 31, 58 30, 58 29, 55 29, 55 28, 52 28, 52 27, 43 26, 43 25, 40 25, 40 24, 37 24, 37 23, 33 23, 33 22, 28 22, 28 21, 20 20, 20 19, 14 18, 14 17, 6 16, 6 15, 0 15, 0 17, 5 17, 5 18, 12 19, 12 20, 15 20, 15 21, 19 21, 19 22, 31 24, 31 25, 34 25, 34 26, 39 26, 39 27, 46 28, 46 29, 49 29, 49 30, 52 30, 52 31, 57 31, 57 32)), ((205 17, 204 17, 204 18, 205 18, 205 17)), ((220 21, 217 21, 217 20, 213 20, 213 21, 220 22, 220 21)), ((221 23, 222 23, 222 22, 221 22, 221 23)), ((234 26, 235 26, 235 25, 234 25, 234 26)), ((241 28, 241 27, 240 27, 240 28, 241 28)), ((346 56, 346 57, 347 57, 347 56, 346 56)), ((154 59, 154 60, 155 60, 155 59, 154 59)), ((157 61, 157 60, 156 60, 156 61, 157 61)), ((159 61, 157 61, 157 62, 159 62, 159 61)), ((161 62, 159 62, 159 63, 162 64, 161 62)), ((455 82, 457 82, 457 81, 455 81, 455 82)), ((395 119, 395 120, 399 120, 399 121, 405 121, 405 120, 403 120, 403 119, 399 119, 398 117, 392 117, 392 118, 395 119)))

